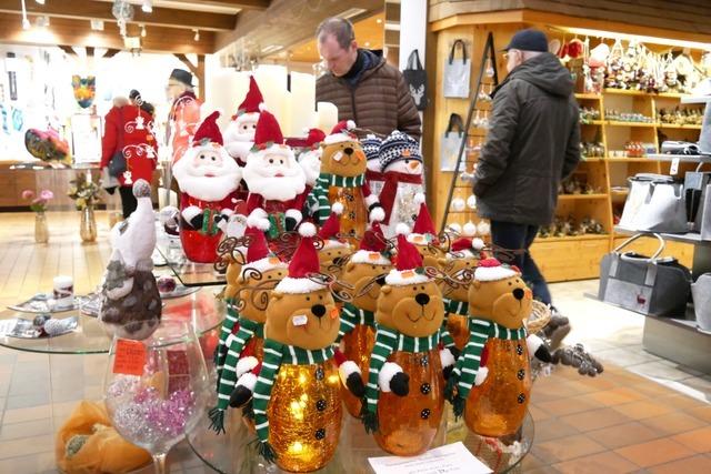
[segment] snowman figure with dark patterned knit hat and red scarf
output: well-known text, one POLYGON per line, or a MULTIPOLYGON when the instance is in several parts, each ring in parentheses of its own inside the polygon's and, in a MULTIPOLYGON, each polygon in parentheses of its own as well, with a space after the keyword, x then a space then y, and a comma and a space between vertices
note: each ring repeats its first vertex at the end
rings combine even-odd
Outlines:
POLYGON ((385 211, 385 235, 391 238, 398 223, 411 226, 417 219, 419 204, 414 196, 424 192, 422 154, 417 140, 395 130, 383 140, 379 157, 384 178, 380 203, 385 211))

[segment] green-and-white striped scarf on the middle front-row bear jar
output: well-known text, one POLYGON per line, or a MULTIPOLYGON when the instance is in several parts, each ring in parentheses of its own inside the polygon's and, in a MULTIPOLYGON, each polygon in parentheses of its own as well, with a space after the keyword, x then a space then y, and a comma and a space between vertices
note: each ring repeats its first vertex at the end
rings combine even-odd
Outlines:
POLYGON ((390 354, 400 352, 425 352, 431 351, 440 343, 439 331, 425 337, 410 337, 398 331, 381 326, 375 323, 375 346, 370 355, 370 373, 368 374, 368 385, 365 386, 365 404, 368 412, 375 414, 378 407, 378 375, 388 361, 390 354))

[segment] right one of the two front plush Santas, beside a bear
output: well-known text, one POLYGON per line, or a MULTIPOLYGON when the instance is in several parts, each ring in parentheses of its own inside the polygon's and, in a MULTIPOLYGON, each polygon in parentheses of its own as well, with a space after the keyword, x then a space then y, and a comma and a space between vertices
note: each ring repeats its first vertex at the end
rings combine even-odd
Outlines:
POLYGON ((247 158, 243 178, 249 188, 247 215, 258 212, 270 220, 267 233, 276 240, 301 222, 301 202, 306 175, 297 162, 273 114, 262 110, 257 122, 254 147, 247 158))

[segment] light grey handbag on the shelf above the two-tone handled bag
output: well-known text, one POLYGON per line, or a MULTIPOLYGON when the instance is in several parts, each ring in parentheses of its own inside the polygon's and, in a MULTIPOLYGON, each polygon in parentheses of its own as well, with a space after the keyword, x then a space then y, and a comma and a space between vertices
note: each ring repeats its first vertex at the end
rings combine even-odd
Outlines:
POLYGON ((630 178, 630 193, 620 225, 640 232, 687 232, 683 185, 671 177, 639 173, 630 178))

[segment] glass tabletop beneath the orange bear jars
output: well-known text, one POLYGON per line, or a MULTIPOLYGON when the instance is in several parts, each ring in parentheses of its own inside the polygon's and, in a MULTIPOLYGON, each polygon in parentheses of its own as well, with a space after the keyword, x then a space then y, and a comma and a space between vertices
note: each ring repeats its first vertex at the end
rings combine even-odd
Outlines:
MULTIPOLYGON (((447 405, 449 407, 449 404, 447 405)), ((451 412, 448 409, 445 413, 451 412)), ((451 415, 451 413, 450 413, 451 415)), ((250 433, 240 420, 241 410, 228 411, 227 433, 210 431, 207 416, 188 435, 194 453, 212 470, 224 474, 282 473, 276 465, 269 465, 257 454, 257 436, 250 433)), ((533 444, 533 420, 527 414, 523 426, 517 435, 508 440, 487 438, 471 433, 457 423, 445 436, 444 421, 440 426, 432 447, 463 441, 467 448, 494 473, 511 473, 520 470, 523 457, 533 444)), ((344 412, 339 447, 330 463, 317 473, 321 474, 371 474, 369 457, 388 456, 380 450, 372 435, 368 435, 360 421, 344 412)))

